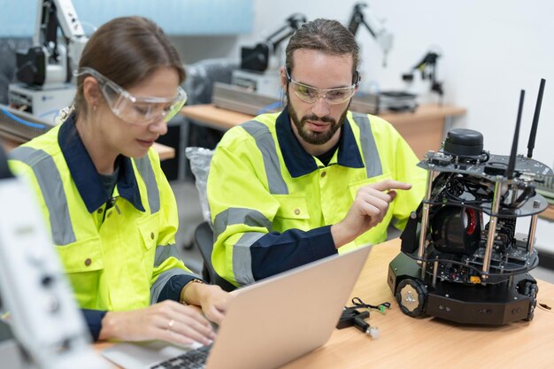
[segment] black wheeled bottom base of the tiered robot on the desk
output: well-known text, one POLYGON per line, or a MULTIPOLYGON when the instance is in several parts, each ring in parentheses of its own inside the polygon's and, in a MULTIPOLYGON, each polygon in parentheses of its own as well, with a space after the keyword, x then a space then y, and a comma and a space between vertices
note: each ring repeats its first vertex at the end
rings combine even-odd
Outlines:
POLYGON ((417 261, 400 253, 389 265, 389 288, 411 317, 434 316, 462 324, 504 325, 531 320, 538 287, 529 273, 496 284, 466 284, 421 278, 417 261))

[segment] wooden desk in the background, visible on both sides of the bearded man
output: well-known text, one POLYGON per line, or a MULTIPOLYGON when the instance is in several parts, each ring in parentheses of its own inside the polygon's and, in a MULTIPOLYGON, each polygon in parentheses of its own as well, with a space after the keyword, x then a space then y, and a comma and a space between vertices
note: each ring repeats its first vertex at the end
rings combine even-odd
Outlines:
MULTIPOLYGON (((249 114, 229 111, 212 104, 185 106, 181 109, 181 114, 220 130, 227 130, 252 119, 249 114)), ((447 127, 450 129, 450 119, 464 114, 466 109, 455 106, 423 104, 414 112, 388 112, 379 116, 396 128, 418 158, 423 158, 428 150, 438 150, 440 147, 445 134, 445 123, 448 123, 447 127)))

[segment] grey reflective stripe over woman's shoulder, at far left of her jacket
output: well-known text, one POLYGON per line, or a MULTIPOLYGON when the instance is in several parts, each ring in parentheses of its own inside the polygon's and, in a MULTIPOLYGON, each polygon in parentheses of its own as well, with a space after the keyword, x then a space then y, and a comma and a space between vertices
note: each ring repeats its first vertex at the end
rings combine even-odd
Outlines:
POLYGON ((36 181, 41 188, 42 198, 50 213, 52 241, 60 246, 75 242, 64 185, 54 159, 44 150, 26 146, 13 150, 10 158, 19 160, 33 169, 36 181))

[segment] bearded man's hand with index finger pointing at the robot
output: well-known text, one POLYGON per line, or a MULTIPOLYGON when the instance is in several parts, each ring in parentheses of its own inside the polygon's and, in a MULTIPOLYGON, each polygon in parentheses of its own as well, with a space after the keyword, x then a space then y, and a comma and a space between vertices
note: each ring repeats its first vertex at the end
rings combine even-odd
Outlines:
POLYGON ((392 180, 359 188, 346 217, 331 227, 336 248, 354 241, 360 234, 381 223, 389 204, 396 198, 396 189, 410 188, 412 185, 409 183, 392 180))

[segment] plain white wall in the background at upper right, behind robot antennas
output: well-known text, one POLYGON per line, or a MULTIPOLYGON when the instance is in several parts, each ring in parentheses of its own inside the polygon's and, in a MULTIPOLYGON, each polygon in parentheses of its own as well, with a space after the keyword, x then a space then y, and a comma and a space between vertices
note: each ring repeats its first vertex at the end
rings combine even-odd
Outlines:
MULTIPOLYGON (((254 3, 254 33, 239 37, 230 57, 238 58, 240 45, 252 46, 273 33, 293 12, 304 13, 308 19, 322 17, 346 23, 358 2, 254 3)), ((377 17, 387 19, 395 39, 388 66, 383 68, 381 50, 365 29, 358 30, 365 81, 376 81, 382 89, 404 88, 401 74, 419 62, 432 45, 439 46, 438 79, 444 82, 444 102, 467 109, 466 117, 457 119, 455 127, 480 131, 485 149, 492 153, 510 152, 521 88, 527 95, 519 153, 527 152, 539 81, 546 79, 534 158, 554 165, 554 42, 550 39, 554 35, 554 2, 372 0, 367 4, 377 17)), ((554 223, 540 220, 537 239, 539 246, 554 252, 554 242, 550 242, 554 240, 554 223)))

